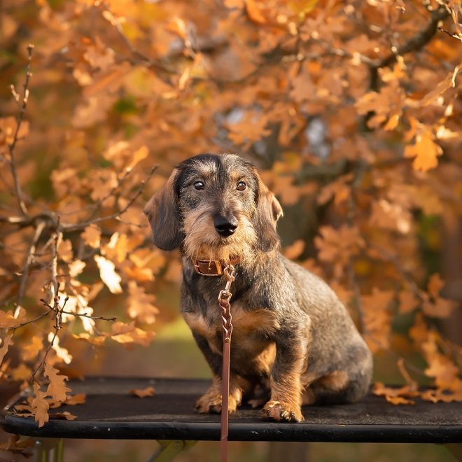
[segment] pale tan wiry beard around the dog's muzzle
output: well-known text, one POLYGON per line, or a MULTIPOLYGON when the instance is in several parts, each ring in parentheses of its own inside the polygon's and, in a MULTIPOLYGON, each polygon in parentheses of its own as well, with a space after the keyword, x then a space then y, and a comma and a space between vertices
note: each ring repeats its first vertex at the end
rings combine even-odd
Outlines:
POLYGON ((255 256, 257 237, 251 221, 244 214, 238 218, 235 233, 228 237, 216 232, 208 209, 186 214, 183 232, 186 236, 183 251, 188 258, 220 260, 227 264, 236 258, 240 262, 252 261, 255 256))

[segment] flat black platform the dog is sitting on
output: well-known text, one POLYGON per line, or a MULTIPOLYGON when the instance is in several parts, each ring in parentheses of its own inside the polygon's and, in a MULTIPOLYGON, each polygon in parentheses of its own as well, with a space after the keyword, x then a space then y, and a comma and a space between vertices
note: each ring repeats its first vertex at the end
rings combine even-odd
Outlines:
MULTIPOLYGON (((85 393, 83 405, 64 405, 74 421, 50 420, 37 428, 31 417, 13 415, 17 398, 3 409, 0 424, 8 433, 35 437, 123 440, 219 440, 220 416, 197 414, 194 403, 207 380, 93 377, 71 381, 85 393), (153 386, 155 395, 138 398, 132 388, 153 386)), ((55 409, 50 409, 52 412, 55 409)), ((303 407, 304 423, 260 419, 259 409, 240 407, 230 416, 229 439, 312 442, 462 442, 462 402, 416 400, 394 406, 372 394, 358 404, 303 407)))

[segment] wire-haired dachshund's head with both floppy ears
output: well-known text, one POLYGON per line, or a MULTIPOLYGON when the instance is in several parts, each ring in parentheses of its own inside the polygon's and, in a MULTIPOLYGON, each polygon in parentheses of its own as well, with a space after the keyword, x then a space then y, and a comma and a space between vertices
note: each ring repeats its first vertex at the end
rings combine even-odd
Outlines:
POLYGON ((202 154, 176 166, 144 213, 155 246, 229 262, 279 245, 279 202, 257 170, 233 154, 202 154))

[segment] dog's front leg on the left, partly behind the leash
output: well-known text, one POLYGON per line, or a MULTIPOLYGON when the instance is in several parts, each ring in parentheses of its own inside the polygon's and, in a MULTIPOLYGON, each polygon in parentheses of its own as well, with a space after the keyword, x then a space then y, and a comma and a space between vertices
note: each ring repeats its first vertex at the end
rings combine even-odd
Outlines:
MULTIPOLYGON (((221 413, 221 402, 222 402, 222 356, 221 354, 212 351, 208 340, 201 335, 193 332, 193 337, 199 348, 202 351, 207 363, 212 370, 213 379, 212 384, 207 392, 202 395, 196 402, 196 409, 198 412, 207 413, 212 412, 215 414, 221 413)), ((236 374, 230 372, 230 396, 228 400, 229 412, 235 412, 237 406, 242 400, 242 388, 239 385, 239 377, 236 374)))

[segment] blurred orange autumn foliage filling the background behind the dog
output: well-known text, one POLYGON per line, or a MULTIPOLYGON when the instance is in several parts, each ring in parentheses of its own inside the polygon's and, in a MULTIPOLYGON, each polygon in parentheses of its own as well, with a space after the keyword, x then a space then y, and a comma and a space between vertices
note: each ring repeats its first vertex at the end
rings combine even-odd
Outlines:
MULTIPOLYGON (((179 318, 179 255, 152 248, 141 211, 176 162, 233 152, 283 205, 282 251, 349 307, 376 356, 375 391, 410 403, 432 384, 421 398, 462 400, 458 2, 0 8, 4 399, 32 374, 55 380, 64 398, 43 399, 57 402, 66 377, 209 377, 179 318), (402 384, 398 397, 381 382, 402 384)), ((73 450, 90 461, 97 444, 73 450)), ((342 460, 441 456, 374 446, 345 446, 342 460)), ((266 454, 232 447, 239 460, 266 454)))

